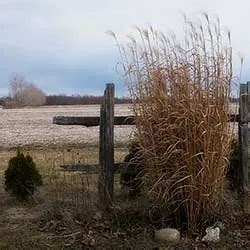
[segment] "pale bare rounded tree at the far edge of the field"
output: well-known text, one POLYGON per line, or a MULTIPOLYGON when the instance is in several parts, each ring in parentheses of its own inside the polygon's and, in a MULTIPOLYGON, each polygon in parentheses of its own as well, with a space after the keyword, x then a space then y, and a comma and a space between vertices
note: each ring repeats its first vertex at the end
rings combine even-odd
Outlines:
POLYGON ((17 74, 10 79, 10 97, 18 106, 40 106, 46 101, 46 96, 40 88, 17 74))

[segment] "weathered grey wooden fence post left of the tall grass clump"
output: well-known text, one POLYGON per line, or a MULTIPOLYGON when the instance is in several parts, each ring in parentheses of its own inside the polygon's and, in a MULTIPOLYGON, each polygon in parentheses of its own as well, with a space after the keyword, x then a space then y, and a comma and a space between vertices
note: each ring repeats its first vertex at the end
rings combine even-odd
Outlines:
POLYGON ((107 84, 100 113, 99 206, 107 209, 114 189, 114 84, 107 84))

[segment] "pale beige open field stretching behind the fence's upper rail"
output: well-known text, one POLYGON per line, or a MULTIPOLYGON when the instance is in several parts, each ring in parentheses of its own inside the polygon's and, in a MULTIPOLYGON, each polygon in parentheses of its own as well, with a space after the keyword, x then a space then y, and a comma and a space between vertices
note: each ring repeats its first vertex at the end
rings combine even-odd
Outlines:
MULTIPOLYGON (((52 124, 54 116, 98 116, 99 105, 43 106, 0 109, 0 148, 98 144, 99 127, 52 124)), ((128 105, 116 105, 115 115, 130 114, 128 105)), ((133 126, 115 126, 115 142, 126 143, 133 126)))

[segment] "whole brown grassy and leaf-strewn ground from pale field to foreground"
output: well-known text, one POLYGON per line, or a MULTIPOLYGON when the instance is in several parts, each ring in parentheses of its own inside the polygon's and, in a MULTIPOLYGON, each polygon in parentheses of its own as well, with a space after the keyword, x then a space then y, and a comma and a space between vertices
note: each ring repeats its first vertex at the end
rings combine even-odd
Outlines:
MULTIPOLYGON (((88 185, 79 185, 82 176, 58 171, 60 164, 96 163, 97 147, 23 149, 37 163, 44 185, 28 203, 17 202, 4 190, 4 170, 14 149, 0 151, 0 249, 250 249, 250 216, 242 209, 234 192, 226 197, 221 217, 225 231, 219 243, 201 242, 204 232, 195 236, 182 233, 177 244, 154 240, 160 226, 149 219, 144 200, 128 199, 115 180, 113 209, 102 214, 97 209, 98 176, 88 176, 88 185)), ((115 149, 120 161, 127 149, 115 149)), ((179 228, 178 228, 179 229, 179 228)))

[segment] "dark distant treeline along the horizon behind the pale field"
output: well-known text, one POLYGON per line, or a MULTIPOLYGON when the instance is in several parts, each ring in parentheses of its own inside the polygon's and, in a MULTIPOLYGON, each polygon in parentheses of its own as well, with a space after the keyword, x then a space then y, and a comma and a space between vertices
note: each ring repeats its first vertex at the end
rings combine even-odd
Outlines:
MULTIPOLYGON (((46 96, 45 105, 85 105, 85 104, 101 104, 103 96, 67 96, 67 95, 49 95, 46 96)), ((131 103, 128 97, 116 97, 116 104, 131 103)))

